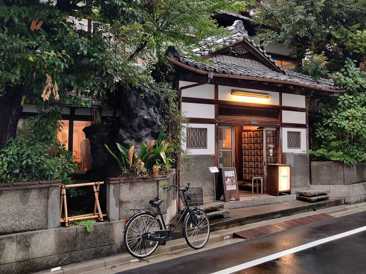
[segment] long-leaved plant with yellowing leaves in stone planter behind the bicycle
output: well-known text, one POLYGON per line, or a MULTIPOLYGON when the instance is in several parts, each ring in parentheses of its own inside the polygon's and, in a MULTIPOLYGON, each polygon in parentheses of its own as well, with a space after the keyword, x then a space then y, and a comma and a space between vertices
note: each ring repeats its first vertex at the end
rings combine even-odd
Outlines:
POLYGON ((172 147, 169 142, 164 139, 164 131, 162 130, 157 140, 150 140, 145 144, 141 142, 141 153, 137 155, 135 153, 135 146, 131 146, 127 151, 121 144, 117 144, 117 148, 121 152, 121 157, 117 157, 110 148, 104 144, 109 153, 117 160, 118 165, 125 173, 140 173, 154 172, 157 176, 157 171, 164 167, 165 171, 170 168, 170 162, 172 159, 169 157, 172 152, 172 147))

